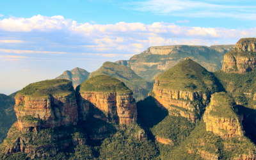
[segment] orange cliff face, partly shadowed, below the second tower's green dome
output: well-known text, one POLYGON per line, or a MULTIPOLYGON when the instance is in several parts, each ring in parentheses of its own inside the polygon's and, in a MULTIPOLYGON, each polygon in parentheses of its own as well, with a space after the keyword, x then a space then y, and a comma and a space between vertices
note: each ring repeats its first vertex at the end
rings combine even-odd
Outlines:
POLYGON ((90 108, 95 108, 96 111, 94 110, 93 113, 95 118, 118 124, 136 122, 136 102, 132 93, 80 92, 79 97, 80 120, 86 120, 90 108))

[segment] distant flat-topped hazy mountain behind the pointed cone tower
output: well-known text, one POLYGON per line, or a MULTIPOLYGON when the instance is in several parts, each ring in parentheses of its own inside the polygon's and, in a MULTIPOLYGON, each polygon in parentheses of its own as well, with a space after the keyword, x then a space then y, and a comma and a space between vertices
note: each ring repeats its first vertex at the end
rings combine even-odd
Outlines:
POLYGON ((184 58, 189 57, 209 71, 220 70, 223 55, 231 51, 235 45, 169 45, 149 47, 141 54, 136 54, 130 60, 116 61, 117 64, 130 67, 138 76, 146 81, 154 78, 164 71, 177 65, 184 58))

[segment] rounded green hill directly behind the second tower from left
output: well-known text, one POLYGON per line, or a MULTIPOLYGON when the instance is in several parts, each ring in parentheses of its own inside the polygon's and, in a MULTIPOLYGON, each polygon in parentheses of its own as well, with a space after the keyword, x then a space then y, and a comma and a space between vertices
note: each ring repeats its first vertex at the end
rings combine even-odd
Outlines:
POLYGON ((89 77, 97 75, 108 75, 124 82, 134 93, 134 99, 141 100, 147 97, 150 86, 147 81, 134 73, 131 68, 106 61, 102 67, 92 72, 89 77))

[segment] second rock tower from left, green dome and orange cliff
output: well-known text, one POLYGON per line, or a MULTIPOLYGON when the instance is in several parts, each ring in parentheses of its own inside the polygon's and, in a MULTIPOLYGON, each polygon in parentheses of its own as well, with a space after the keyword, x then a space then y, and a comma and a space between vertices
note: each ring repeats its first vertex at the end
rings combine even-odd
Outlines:
POLYGON ((95 118, 118 124, 136 122, 136 102, 132 91, 118 79, 94 76, 77 89, 80 120, 86 120, 86 116, 93 114, 95 118))

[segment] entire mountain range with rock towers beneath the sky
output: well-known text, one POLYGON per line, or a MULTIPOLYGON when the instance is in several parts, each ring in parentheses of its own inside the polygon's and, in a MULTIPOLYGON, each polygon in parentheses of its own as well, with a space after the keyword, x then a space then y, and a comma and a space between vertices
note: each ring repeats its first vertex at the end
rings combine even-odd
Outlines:
POLYGON ((0 158, 255 160, 255 45, 150 47, 3 95, 0 158))

